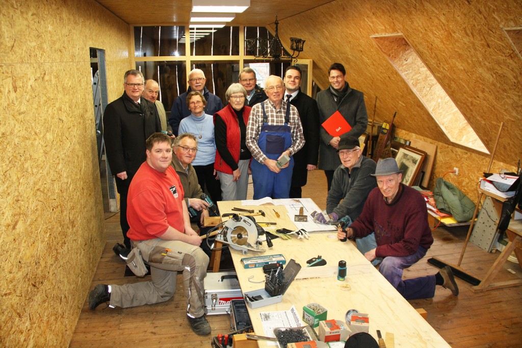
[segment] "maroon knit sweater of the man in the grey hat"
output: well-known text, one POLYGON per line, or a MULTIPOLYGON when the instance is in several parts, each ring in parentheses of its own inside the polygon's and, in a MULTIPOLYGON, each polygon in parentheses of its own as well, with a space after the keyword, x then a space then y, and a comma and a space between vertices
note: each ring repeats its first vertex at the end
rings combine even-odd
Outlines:
POLYGON ((408 256, 416 253, 419 245, 429 249, 433 243, 422 195, 401 185, 399 196, 391 204, 385 202, 378 188, 373 189, 361 215, 350 226, 355 238, 375 231, 377 257, 408 256))

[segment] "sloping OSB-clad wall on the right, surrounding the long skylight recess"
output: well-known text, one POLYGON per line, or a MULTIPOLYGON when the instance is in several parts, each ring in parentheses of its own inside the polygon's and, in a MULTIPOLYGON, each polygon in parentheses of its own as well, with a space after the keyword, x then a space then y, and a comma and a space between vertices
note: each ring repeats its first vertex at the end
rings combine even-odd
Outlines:
POLYGON ((497 159, 514 165, 522 157, 522 60, 502 28, 520 25, 520 0, 336 0, 281 20, 279 35, 287 47, 291 36, 307 40, 300 56, 314 60, 320 86, 329 84, 331 63, 344 64, 370 118, 377 97, 377 121, 397 111, 399 129, 465 149, 449 142, 371 38, 404 34, 490 150, 505 122, 497 159))

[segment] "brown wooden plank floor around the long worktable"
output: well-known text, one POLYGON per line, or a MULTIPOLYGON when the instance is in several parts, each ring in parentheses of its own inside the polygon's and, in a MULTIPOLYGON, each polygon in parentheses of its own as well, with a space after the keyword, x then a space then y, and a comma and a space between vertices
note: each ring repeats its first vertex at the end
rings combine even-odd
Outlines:
MULTIPOLYGON (((326 207, 326 179, 323 171, 309 175, 303 196, 312 198, 321 208, 326 207)), ((249 190, 249 198, 252 190, 249 190)), ((126 284, 150 280, 124 277, 124 264, 112 252, 112 246, 121 242, 119 215, 106 215, 107 243, 91 288, 98 284, 126 284)), ((467 233, 466 227, 437 228, 435 242, 425 258, 405 271, 405 278, 433 274, 437 269, 428 264, 430 257, 456 263, 467 233)), ((487 253, 469 243, 462 267, 476 277, 483 276, 494 262, 498 252, 487 253)), ((507 262, 495 281, 517 279, 522 271, 517 264, 507 262), (516 274, 509 273, 510 268, 516 274)), ((468 347, 520 347, 522 346, 522 287, 497 289, 484 293, 472 293, 470 285, 457 280, 458 298, 442 287, 437 287, 433 299, 412 300, 415 308, 428 311, 428 321, 454 348, 468 347)), ((91 311, 87 304, 76 325, 70 347, 204 347, 210 346, 210 335, 199 337, 188 327, 185 319, 185 296, 178 276, 173 299, 150 306, 135 308, 105 308, 100 305, 91 311)), ((397 315, 400 315, 398 313, 397 315)), ((230 318, 227 315, 207 317, 212 334, 228 333, 230 318)))

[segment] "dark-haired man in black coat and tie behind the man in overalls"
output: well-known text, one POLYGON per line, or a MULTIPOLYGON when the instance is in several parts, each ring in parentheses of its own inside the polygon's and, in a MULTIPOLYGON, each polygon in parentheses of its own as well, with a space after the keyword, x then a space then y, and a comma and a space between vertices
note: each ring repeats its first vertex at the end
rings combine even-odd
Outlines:
POLYGON ((303 125, 304 146, 294 154, 294 168, 290 185, 290 198, 301 198, 308 171, 317 166, 319 151, 319 110, 315 100, 301 92, 301 69, 289 66, 284 72, 284 100, 299 111, 303 125))

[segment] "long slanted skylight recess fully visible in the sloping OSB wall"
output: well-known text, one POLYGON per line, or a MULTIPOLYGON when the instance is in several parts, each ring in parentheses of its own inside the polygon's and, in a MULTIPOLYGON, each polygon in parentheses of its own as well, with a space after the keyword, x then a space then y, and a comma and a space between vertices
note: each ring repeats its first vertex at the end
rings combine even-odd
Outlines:
POLYGON ((464 115, 402 34, 373 36, 373 39, 450 141, 489 154, 464 115))

